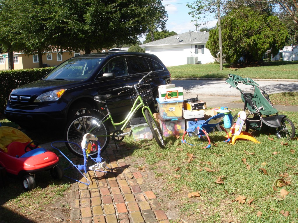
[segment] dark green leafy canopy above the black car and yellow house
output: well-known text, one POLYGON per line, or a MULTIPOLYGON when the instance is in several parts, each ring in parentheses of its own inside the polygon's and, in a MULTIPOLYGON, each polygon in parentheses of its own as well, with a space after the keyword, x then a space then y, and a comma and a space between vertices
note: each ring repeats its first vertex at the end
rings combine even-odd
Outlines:
POLYGON ((14 14, 0 8, 0 42, 22 43, 13 49, 28 53, 53 49, 91 53, 136 43, 151 24, 163 27, 167 21, 160 0, 0 0, 0 5, 6 3, 14 14))

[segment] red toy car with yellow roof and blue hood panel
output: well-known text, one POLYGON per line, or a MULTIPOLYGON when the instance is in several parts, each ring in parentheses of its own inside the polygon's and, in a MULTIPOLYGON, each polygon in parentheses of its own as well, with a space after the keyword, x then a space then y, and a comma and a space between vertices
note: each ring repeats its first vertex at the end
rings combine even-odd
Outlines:
POLYGON ((22 131, 0 127, 0 166, 5 167, 7 173, 23 178, 25 190, 35 188, 35 172, 50 170, 51 176, 60 180, 64 173, 58 162, 55 153, 38 147, 37 141, 32 141, 22 131))

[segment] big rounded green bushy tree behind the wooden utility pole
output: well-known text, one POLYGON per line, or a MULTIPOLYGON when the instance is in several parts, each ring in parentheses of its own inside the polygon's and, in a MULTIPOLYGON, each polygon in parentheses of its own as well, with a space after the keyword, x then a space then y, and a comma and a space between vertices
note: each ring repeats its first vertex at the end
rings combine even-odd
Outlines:
MULTIPOLYGON (((275 55, 288 37, 285 25, 277 16, 245 7, 229 12, 222 24, 223 55, 231 64, 260 61, 269 49, 275 55)), ((209 34, 206 47, 217 57, 218 30, 211 30, 209 34)))

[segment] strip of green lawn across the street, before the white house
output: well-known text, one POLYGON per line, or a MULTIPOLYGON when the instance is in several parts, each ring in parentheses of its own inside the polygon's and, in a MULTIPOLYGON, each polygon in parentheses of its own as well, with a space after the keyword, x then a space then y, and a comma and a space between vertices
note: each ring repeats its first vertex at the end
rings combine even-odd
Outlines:
POLYGON ((298 61, 270 61, 263 66, 231 68, 219 64, 188 64, 168 67, 172 78, 228 78, 228 74, 259 79, 298 79, 298 61))

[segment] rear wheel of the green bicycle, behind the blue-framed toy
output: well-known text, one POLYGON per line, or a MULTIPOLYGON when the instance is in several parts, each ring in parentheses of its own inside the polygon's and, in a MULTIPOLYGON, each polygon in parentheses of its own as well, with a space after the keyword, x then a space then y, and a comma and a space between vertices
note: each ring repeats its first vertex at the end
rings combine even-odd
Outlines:
MULTIPOLYGON (((108 143, 110 141, 110 131, 108 126, 104 123, 101 123, 97 126, 93 121, 99 122, 100 119, 92 114, 81 114, 72 118, 69 123, 66 125, 66 129, 64 131, 64 140, 66 142, 66 146, 70 152, 75 154, 78 157, 83 157, 83 150, 80 146, 83 140, 83 136, 86 133, 94 134, 100 141, 101 152, 103 152, 108 143), (92 131, 91 131, 92 129, 92 131), (74 142, 74 143, 69 143, 74 142)), ((98 153, 98 150, 95 152, 89 153, 89 155, 95 155, 98 153)))

